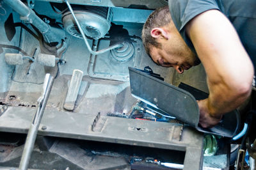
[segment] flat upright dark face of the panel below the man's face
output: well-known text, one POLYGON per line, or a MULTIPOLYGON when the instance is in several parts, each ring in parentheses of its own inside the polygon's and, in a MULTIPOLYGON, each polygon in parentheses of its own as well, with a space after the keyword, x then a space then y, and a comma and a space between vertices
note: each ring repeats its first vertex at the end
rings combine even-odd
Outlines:
POLYGON ((199 121, 199 108, 195 98, 184 91, 156 79, 147 73, 129 67, 131 93, 143 102, 149 102, 152 106, 174 116, 178 120, 196 127, 199 121))

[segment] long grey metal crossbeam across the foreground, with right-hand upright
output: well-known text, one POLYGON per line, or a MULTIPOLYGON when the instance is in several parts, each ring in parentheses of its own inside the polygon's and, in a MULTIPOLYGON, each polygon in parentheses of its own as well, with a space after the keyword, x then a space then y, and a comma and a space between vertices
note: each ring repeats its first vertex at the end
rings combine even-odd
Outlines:
MULTIPOLYGON (((34 112, 35 109, 28 107, 8 107, 0 117, 0 131, 28 132, 34 112)), ((182 130, 182 125, 175 123, 109 116, 100 116, 97 122, 100 122, 100 119, 106 121, 102 123, 100 130, 93 132, 92 123, 95 114, 45 109, 38 134, 186 151, 184 169, 202 167, 203 135, 193 128, 184 127, 182 130)))

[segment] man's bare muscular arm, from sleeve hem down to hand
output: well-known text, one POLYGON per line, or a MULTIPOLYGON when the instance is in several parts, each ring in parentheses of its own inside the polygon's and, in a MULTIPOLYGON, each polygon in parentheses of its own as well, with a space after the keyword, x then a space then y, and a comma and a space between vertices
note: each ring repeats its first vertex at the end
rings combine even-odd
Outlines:
POLYGON ((198 101, 202 127, 216 125, 225 112, 249 97, 253 65, 227 17, 218 10, 201 13, 186 25, 207 73, 209 98, 198 101))

